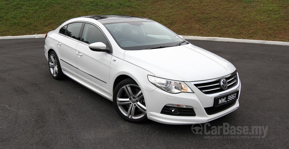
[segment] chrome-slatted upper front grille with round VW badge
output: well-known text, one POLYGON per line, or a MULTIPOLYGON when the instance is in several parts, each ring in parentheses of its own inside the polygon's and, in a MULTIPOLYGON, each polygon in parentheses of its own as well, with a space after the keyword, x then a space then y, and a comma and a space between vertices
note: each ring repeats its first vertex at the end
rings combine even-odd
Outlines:
MULTIPOLYGON (((238 75, 237 72, 224 77, 228 82, 228 87, 226 90, 229 90, 233 87, 235 87, 238 84, 238 75)), ((200 83, 200 84, 194 84, 195 87, 197 87, 201 92, 204 94, 214 94, 224 91, 221 87, 221 80, 222 78, 219 78, 217 80, 206 82, 206 83, 200 83)))

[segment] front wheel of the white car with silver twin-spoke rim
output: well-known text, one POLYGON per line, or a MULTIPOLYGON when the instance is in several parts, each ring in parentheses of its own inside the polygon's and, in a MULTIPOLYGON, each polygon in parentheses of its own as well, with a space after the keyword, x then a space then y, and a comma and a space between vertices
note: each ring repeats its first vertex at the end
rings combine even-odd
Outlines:
POLYGON ((145 107, 145 101, 142 95, 142 91, 138 84, 132 80, 131 78, 127 78, 123 81, 121 81, 114 89, 113 91, 113 106, 117 113, 125 120, 132 122, 132 123, 143 123, 148 120, 147 114, 146 114, 146 107, 145 107), (129 98, 129 96, 126 94, 125 90, 131 90, 131 93, 133 94, 132 98, 129 98), (130 99, 129 101, 119 101, 117 98, 123 96, 123 99, 130 99), (134 100, 134 101, 133 101, 134 100), (123 103, 128 103, 120 105, 123 103), (132 108, 131 108, 132 107, 132 108), (134 107, 134 108, 133 108, 134 107), (145 108, 143 108, 145 107, 145 108), (127 111, 126 111, 127 109, 127 111), (132 109, 134 112, 132 112, 132 109), (128 112, 130 111, 130 112, 128 112), (144 112, 145 111, 145 112, 144 112), (126 114, 125 114, 126 112, 126 114), (130 115, 128 115, 130 113, 130 115), (138 118, 140 117, 140 118, 138 118))

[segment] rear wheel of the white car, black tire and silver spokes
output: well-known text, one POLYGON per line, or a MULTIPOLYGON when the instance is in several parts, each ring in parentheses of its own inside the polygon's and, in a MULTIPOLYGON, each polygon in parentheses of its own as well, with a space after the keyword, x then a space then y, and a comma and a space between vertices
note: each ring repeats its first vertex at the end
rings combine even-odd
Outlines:
POLYGON ((54 51, 51 51, 48 54, 48 68, 49 68, 49 72, 50 72, 51 76, 54 79, 59 80, 59 79, 64 78, 64 74, 62 72, 58 56, 56 55, 56 53, 54 51), (57 64, 56 66, 54 65, 55 60, 56 60, 56 64, 57 64), (55 71, 55 73, 54 73, 54 71, 55 71))

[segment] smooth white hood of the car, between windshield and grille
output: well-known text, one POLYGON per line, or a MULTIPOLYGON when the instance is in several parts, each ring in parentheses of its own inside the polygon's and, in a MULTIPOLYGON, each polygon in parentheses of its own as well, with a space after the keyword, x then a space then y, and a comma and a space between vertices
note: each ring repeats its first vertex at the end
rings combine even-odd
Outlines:
POLYGON ((233 73, 227 60, 192 44, 150 50, 126 50, 124 60, 156 77, 176 81, 201 81, 233 73))

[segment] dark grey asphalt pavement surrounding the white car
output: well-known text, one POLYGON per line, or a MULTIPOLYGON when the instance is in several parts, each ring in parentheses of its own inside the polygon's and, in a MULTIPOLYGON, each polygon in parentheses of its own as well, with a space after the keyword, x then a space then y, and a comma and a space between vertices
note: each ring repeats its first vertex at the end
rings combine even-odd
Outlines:
POLYGON ((44 38, 8 39, 0 40, 0 148, 289 148, 289 46, 188 41, 232 62, 241 79, 240 108, 210 126, 267 126, 266 136, 129 123, 97 93, 53 79, 44 38))

